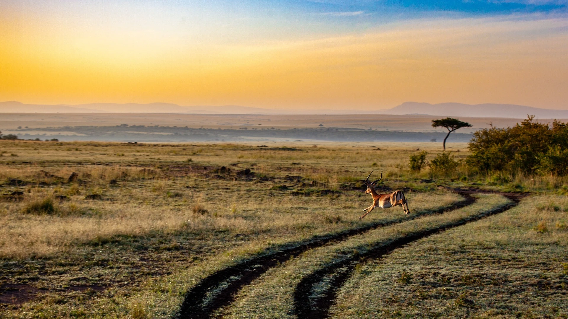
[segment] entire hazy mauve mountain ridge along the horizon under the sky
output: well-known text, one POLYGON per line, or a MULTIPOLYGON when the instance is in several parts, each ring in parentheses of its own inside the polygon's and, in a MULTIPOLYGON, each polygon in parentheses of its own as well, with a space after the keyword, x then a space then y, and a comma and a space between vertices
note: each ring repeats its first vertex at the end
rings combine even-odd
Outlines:
POLYGON ((507 117, 524 119, 534 115, 538 119, 568 119, 568 110, 548 110, 515 104, 463 104, 404 102, 382 110, 283 110, 237 105, 179 106, 173 103, 88 103, 78 105, 24 104, 16 101, 0 102, 0 113, 173 113, 173 114, 421 114, 454 117, 507 117))

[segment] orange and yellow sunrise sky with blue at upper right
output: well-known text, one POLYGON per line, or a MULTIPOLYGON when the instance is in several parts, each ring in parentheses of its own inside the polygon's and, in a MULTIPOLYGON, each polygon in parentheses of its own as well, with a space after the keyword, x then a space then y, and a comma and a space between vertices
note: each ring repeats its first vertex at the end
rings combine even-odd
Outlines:
POLYGON ((568 0, 0 1, 0 101, 568 110, 568 0))

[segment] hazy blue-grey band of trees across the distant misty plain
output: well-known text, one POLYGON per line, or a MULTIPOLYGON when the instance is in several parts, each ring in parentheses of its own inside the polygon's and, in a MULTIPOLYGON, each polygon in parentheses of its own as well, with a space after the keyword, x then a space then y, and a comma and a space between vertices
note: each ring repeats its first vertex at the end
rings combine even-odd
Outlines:
MULTIPOLYGON (((445 133, 437 132, 396 132, 373 131, 357 128, 258 128, 240 129, 191 128, 144 125, 116 126, 76 126, 58 128, 18 129, 22 138, 59 138, 60 140, 100 140, 100 141, 250 141, 288 138, 290 140, 323 141, 392 141, 392 142, 429 142, 442 141, 445 133), (54 132, 53 135, 29 135, 26 131, 54 132), (76 135, 58 135, 55 132, 74 132, 76 135)), ((454 133, 451 142, 468 142, 471 134, 454 133)))

